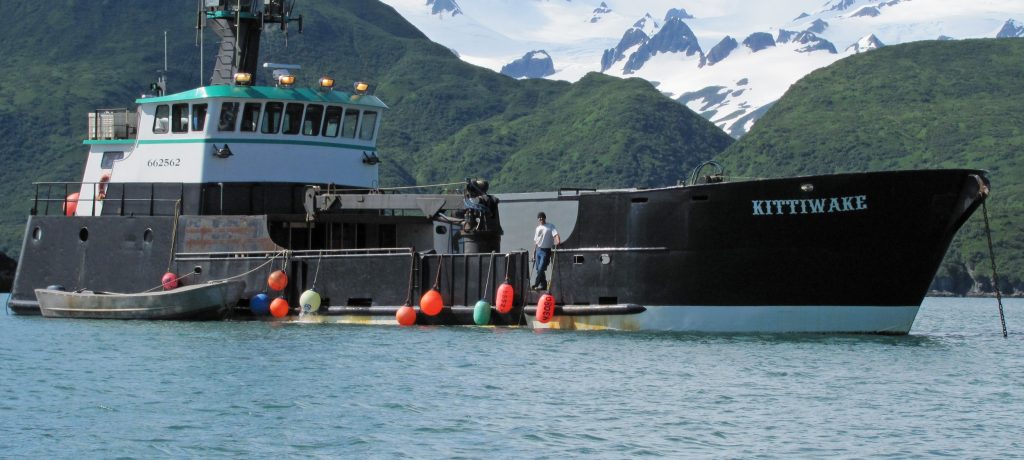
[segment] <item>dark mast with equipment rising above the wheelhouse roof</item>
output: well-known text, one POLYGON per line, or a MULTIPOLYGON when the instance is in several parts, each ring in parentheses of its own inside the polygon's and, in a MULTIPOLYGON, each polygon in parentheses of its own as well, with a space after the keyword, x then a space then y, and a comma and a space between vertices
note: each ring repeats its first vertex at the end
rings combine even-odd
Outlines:
POLYGON ((255 76, 263 26, 281 25, 287 37, 288 24, 298 22, 302 33, 302 16, 292 15, 295 0, 203 0, 200 7, 200 28, 220 37, 212 85, 230 85, 239 73, 255 76))

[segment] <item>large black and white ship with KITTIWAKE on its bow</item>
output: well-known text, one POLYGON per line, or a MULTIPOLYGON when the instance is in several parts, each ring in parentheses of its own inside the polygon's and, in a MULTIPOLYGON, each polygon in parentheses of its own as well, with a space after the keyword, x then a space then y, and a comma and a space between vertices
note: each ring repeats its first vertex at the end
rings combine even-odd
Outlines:
POLYGON ((292 4, 198 12, 220 38, 210 84, 88 114, 82 180, 35 183, 15 313, 39 313, 36 289, 242 280, 231 319, 273 298, 275 316, 349 324, 907 334, 989 194, 975 169, 729 180, 715 162, 653 189, 381 187, 388 107, 370 85, 298 87, 274 64, 256 84, 261 34, 301 31, 292 4), (561 244, 535 290, 542 211, 561 244))

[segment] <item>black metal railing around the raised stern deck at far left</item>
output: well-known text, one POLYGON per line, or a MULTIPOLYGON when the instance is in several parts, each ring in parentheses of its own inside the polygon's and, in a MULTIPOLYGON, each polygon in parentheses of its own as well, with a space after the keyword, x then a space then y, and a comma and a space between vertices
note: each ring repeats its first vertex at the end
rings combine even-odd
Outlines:
POLYGON ((100 215, 101 208, 97 205, 106 203, 106 206, 117 206, 117 212, 108 212, 108 214, 119 214, 124 215, 125 204, 127 203, 142 203, 141 206, 133 207, 133 215, 173 215, 173 209, 175 203, 181 201, 184 197, 184 184, 178 184, 180 192, 175 197, 168 198, 158 198, 156 184, 151 183, 147 187, 147 193, 143 196, 126 196, 125 186, 120 186, 117 197, 112 197, 106 192, 111 190, 110 182, 33 182, 36 187, 36 195, 32 199, 32 210, 30 213, 32 215, 68 215, 68 206, 70 203, 75 203, 76 212, 74 215, 78 216, 97 216, 100 215), (75 194, 81 194, 81 191, 86 190, 86 187, 92 189, 91 196, 93 198, 73 196, 75 194), (62 194, 61 194, 62 192, 62 194), (58 195, 59 194, 59 195, 58 195), (166 204, 166 206, 158 206, 166 204), (83 206, 88 206, 88 212, 82 212, 83 206), (158 213, 158 209, 170 210, 164 213, 158 213), (140 212, 141 211, 141 212, 140 212))

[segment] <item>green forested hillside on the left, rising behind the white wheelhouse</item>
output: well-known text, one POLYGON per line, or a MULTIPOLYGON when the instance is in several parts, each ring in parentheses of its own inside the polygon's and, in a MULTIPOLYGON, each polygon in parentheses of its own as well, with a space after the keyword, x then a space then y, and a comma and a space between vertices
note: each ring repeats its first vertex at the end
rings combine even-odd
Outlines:
MULTIPOLYGON (((0 251, 16 254, 33 181, 80 180, 86 114, 132 107, 163 67, 169 90, 209 78, 214 35, 200 73, 194 0, 4 2, 19 20, 0 28, 0 251)), ((264 34, 262 61, 365 80, 391 110, 380 141, 382 184, 467 176, 495 191, 665 185, 732 139, 642 80, 591 75, 575 84, 516 81, 465 64, 376 0, 298 3, 305 31, 286 46, 264 34)))

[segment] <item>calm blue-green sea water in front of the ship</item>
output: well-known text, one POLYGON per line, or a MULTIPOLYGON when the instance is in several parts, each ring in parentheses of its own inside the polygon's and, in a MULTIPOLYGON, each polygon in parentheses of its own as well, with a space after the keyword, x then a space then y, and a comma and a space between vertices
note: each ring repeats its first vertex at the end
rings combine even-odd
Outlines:
POLYGON ((0 456, 1024 456, 1024 301, 911 335, 0 315, 0 456))

